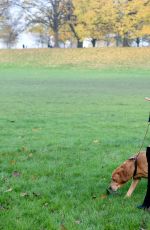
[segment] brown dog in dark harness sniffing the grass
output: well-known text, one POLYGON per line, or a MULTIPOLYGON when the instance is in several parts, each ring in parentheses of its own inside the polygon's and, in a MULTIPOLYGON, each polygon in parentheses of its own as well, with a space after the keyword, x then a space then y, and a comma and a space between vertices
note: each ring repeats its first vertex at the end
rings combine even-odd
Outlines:
POLYGON ((112 180, 108 188, 108 193, 116 192, 122 185, 133 178, 130 188, 126 194, 130 197, 141 178, 148 177, 148 164, 146 153, 140 152, 138 155, 126 160, 112 173, 112 180))

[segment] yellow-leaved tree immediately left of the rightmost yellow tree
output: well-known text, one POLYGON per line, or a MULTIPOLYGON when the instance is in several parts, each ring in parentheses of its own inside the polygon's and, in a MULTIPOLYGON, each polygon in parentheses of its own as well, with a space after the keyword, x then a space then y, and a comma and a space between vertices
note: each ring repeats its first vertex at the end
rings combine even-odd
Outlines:
POLYGON ((77 16, 76 30, 79 36, 97 39, 113 32, 115 23, 115 8, 113 0, 74 0, 75 15, 77 16))

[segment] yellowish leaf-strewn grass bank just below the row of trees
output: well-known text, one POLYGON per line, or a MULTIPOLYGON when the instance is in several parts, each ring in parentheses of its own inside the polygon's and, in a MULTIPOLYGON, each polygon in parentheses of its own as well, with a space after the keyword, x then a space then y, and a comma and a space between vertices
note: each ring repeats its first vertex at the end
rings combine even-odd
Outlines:
POLYGON ((0 63, 11 67, 149 68, 150 48, 1 50, 0 63))

